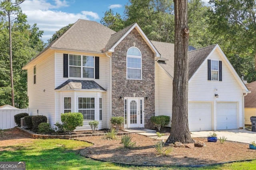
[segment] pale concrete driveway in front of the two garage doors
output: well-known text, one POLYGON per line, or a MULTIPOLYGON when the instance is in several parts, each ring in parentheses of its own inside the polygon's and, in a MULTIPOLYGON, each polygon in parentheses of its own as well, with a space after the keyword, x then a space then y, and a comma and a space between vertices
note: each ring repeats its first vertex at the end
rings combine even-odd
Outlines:
POLYGON ((232 130, 220 130, 220 131, 198 131, 191 132, 192 137, 207 137, 208 134, 216 133, 217 137, 226 137, 227 141, 235 141, 242 143, 251 143, 252 141, 256 142, 256 132, 246 131, 243 129, 232 129, 232 130))

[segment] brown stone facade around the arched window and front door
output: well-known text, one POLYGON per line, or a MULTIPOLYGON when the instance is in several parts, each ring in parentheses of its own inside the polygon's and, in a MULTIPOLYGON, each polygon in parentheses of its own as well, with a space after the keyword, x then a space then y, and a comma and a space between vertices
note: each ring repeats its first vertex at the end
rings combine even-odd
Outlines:
POLYGON ((134 28, 112 53, 112 116, 124 116, 124 98, 136 93, 136 98, 144 98, 144 127, 154 127, 150 122, 155 115, 154 64, 154 53, 134 28), (142 54, 142 80, 126 79, 126 53, 130 47, 137 47, 142 54))

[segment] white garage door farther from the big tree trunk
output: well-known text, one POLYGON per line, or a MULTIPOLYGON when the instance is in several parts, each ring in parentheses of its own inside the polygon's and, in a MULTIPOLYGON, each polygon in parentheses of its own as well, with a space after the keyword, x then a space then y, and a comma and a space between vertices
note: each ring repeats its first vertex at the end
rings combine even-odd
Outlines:
POLYGON ((217 130, 238 129, 237 102, 217 102, 217 130))

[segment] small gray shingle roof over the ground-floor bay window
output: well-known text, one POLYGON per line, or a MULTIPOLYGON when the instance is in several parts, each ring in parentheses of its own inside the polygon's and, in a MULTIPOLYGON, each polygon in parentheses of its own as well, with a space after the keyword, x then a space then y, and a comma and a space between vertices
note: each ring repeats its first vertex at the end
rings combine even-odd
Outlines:
POLYGON ((94 82, 93 80, 67 80, 55 90, 72 90, 72 89, 87 89, 87 90, 104 90, 102 86, 94 82))

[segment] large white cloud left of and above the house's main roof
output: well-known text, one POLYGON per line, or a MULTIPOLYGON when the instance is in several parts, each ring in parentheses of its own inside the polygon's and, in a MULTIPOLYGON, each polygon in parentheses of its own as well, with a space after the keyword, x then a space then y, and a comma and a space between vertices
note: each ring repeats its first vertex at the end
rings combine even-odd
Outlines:
POLYGON ((47 39, 50 39, 52 34, 60 28, 74 23, 78 19, 98 20, 100 18, 97 13, 91 11, 77 13, 58 11, 59 8, 67 6, 66 0, 54 0, 52 3, 47 0, 26 0, 20 4, 22 12, 28 16, 28 23, 30 25, 37 23, 39 29, 44 31, 42 36, 44 42, 47 42, 47 39))

